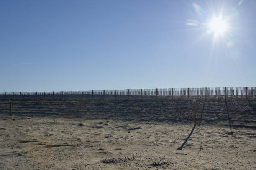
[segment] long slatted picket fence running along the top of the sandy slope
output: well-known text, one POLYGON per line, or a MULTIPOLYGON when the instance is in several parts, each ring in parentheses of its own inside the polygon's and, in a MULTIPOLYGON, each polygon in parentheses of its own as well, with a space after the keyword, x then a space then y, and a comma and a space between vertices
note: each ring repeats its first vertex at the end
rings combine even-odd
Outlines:
POLYGON ((59 92, 5 92, 0 99, 93 99, 93 98, 256 98, 256 87, 155 88, 59 92))

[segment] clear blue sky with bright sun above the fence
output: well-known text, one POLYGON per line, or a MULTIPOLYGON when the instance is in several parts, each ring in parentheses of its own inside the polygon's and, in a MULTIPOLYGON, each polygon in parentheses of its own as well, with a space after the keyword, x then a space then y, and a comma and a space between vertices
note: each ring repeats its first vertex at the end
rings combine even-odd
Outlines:
POLYGON ((0 92, 256 85, 255 0, 1 0, 0 92))

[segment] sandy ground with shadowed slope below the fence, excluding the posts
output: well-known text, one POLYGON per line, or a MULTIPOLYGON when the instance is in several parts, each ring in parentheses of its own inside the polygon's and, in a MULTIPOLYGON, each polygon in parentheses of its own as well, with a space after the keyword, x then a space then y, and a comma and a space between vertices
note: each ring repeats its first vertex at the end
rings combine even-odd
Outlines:
POLYGON ((255 170, 256 100, 0 100, 0 169, 255 170))

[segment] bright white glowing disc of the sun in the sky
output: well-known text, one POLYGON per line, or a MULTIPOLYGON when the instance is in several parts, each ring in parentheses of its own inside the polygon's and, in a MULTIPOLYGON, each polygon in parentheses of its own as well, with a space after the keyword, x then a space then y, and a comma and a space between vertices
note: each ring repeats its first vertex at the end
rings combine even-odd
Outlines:
POLYGON ((222 35, 228 29, 228 25, 225 20, 223 20, 222 16, 213 17, 208 27, 215 35, 222 35))

